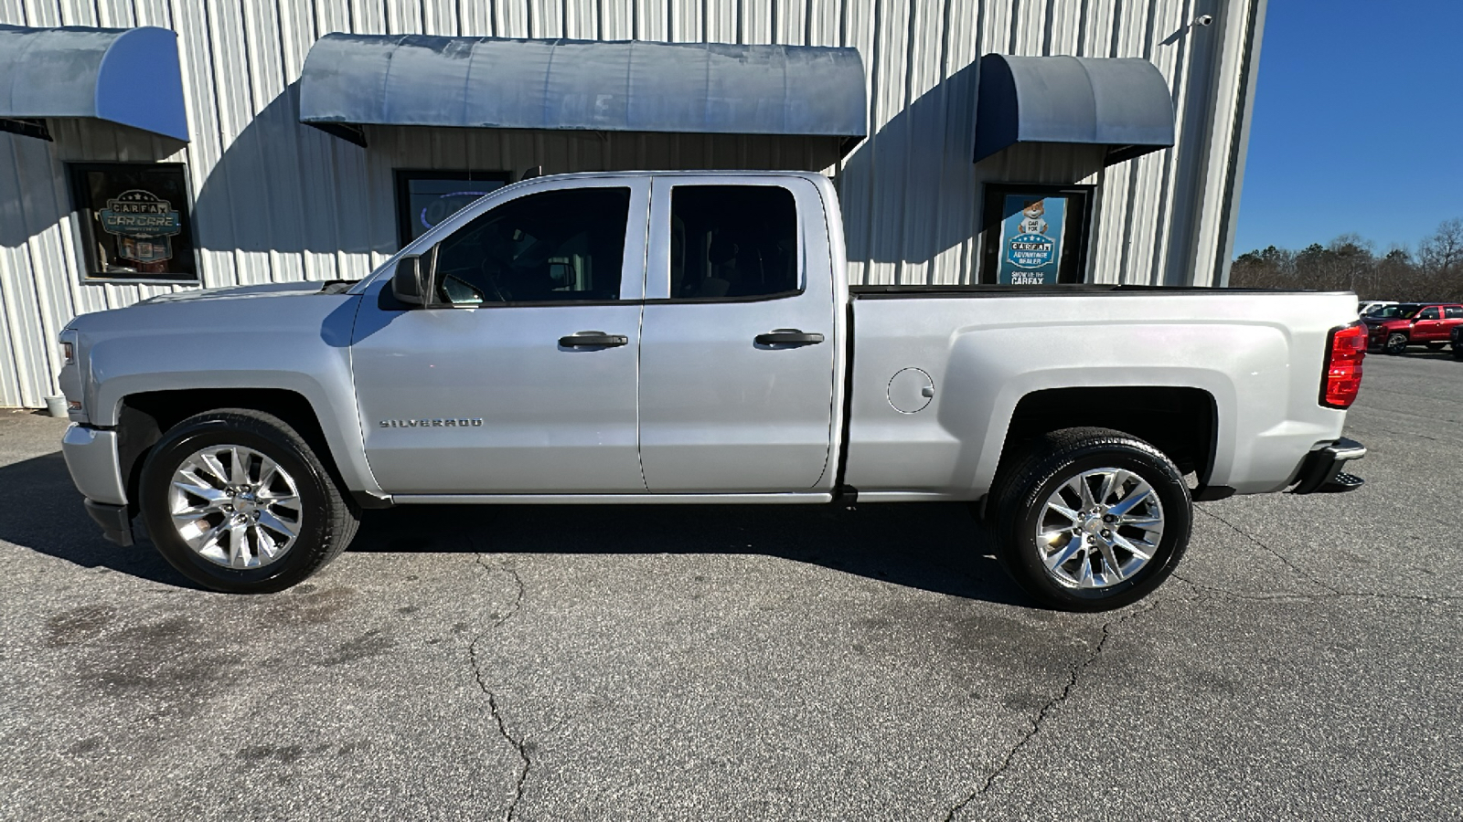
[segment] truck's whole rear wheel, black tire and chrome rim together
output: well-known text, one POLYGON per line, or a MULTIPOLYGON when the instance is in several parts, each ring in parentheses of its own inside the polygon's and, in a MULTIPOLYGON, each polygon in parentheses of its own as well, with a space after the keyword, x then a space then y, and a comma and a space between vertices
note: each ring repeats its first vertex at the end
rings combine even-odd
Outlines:
POLYGON ((1151 445, 1109 429, 1031 443, 992 490, 998 557, 1031 597, 1071 611, 1141 600, 1184 556, 1188 486, 1151 445))

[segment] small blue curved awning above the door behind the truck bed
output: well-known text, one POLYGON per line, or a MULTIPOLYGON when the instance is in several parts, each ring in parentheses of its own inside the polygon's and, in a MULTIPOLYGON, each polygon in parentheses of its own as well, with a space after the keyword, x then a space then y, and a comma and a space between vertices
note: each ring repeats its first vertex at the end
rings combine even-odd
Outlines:
POLYGON ((1169 85, 1141 59, 986 54, 976 159, 1015 143, 1105 145, 1106 165, 1169 148, 1169 85))

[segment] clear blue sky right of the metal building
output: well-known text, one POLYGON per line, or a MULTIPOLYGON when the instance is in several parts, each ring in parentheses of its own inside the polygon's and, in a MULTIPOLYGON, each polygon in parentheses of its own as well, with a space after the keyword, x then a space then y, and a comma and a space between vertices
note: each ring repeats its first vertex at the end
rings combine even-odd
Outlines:
POLYGON ((1463 216, 1463 0, 1270 0, 1235 253, 1463 216))

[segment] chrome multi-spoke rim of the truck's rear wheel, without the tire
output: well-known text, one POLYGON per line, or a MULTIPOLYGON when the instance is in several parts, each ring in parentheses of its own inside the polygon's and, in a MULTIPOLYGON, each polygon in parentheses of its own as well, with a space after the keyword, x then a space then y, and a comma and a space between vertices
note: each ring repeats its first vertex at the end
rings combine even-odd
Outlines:
POLYGON ((1046 497, 1036 524, 1042 565, 1068 588, 1109 588, 1143 569, 1163 540, 1163 503, 1132 471, 1094 468, 1046 497))

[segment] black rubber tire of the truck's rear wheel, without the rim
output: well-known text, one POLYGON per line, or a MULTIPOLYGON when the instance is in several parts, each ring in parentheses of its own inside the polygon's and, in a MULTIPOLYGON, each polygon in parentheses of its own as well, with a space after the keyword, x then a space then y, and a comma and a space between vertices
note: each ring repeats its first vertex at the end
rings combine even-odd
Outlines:
POLYGON ((1002 467, 990 494, 988 518, 1001 565, 1033 598, 1068 611, 1118 608, 1147 597, 1182 559, 1194 524, 1194 503, 1173 462, 1151 445, 1110 429, 1062 429, 1043 436, 1002 467), (1099 468, 1121 468, 1146 481, 1162 505, 1163 532, 1150 559, 1131 576, 1107 587, 1080 588, 1048 570, 1036 535, 1043 516, 1049 516, 1048 499, 1084 471, 1099 468))

